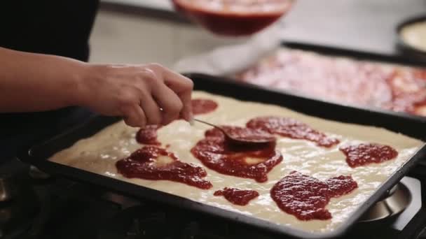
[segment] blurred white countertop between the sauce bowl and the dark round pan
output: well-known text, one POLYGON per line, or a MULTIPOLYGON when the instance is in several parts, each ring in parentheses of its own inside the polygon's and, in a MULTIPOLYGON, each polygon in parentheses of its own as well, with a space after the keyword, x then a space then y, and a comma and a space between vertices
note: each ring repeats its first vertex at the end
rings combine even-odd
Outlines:
POLYGON ((284 17, 282 37, 383 55, 400 55, 396 27, 425 13, 424 0, 330 0, 296 2, 284 17))

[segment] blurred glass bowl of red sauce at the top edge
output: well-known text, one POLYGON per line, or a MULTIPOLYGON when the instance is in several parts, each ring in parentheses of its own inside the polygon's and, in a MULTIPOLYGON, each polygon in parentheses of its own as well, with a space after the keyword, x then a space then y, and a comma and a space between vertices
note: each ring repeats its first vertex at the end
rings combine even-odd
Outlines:
POLYGON ((174 8, 214 34, 249 36, 276 22, 294 0, 172 0, 174 8))

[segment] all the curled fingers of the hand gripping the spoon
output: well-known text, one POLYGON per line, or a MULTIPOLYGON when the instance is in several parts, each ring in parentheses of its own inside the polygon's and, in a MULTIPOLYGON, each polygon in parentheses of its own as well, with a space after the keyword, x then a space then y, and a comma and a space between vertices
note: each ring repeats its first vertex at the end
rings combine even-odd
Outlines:
POLYGON ((137 80, 128 87, 136 89, 137 94, 133 96, 139 100, 124 108, 126 124, 130 126, 165 125, 178 119, 179 116, 191 121, 192 80, 157 64, 139 67, 131 68, 136 70, 134 73, 139 76, 134 78, 137 80))

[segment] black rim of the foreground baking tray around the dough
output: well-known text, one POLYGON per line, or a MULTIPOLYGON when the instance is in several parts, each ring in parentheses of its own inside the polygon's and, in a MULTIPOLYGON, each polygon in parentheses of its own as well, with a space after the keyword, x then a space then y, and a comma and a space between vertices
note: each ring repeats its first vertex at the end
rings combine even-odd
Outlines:
MULTIPOLYGON (((341 122, 350 122, 356 124, 380 126, 391 131, 404 133, 419 139, 425 139, 424 133, 420 133, 425 129, 425 121, 421 121, 415 117, 400 117, 397 113, 384 113, 380 110, 365 110, 349 106, 341 106, 334 103, 327 103, 320 100, 307 99, 302 96, 283 94, 274 90, 262 89, 254 85, 242 84, 225 78, 217 78, 209 75, 188 74, 195 83, 195 89, 203 90, 213 94, 222 96, 231 96, 234 99, 242 101, 258 101, 270 103, 277 106, 284 106, 297 110, 298 112, 322 117, 324 119, 338 120, 341 122)), ((107 176, 90 173, 78 168, 57 164, 47 159, 67 147, 73 145, 81 138, 87 138, 103 129, 105 126, 117 122, 119 119, 114 117, 94 117, 87 123, 82 124, 70 131, 56 136, 39 145, 35 145, 30 149, 23 150, 18 155, 18 159, 37 166, 42 171, 46 171, 52 175, 64 176, 72 180, 78 180, 97 187, 104 187, 118 191, 128 196, 136 196, 160 203, 167 203, 186 210, 203 213, 221 219, 228 219, 230 222, 250 226, 252 229, 258 229, 262 233, 271 233, 275 236, 290 236, 296 238, 336 238, 342 236, 350 226, 357 222, 366 210, 368 210, 380 196, 389 191, 394 184, 408 172, 408 170, 422 157, 426 157, 426 146, 424 145, 415 156, 413 156, 399 171, 394 172, 387 182, 385 182, 377 191, 369 198, 366 203, 362 204, 346 222, 341 224, 338 229, 329 233, 309 233, 289 226, 282 226, 267 222, 262 219, 256 219, 237 212, 231 212, 214 206, 205 205, 195 201, 167 194, 162 191, 156 191, 129 182, 116 180, 107 176)), ((284 212, 283 212, 284 213, 284 212)))

